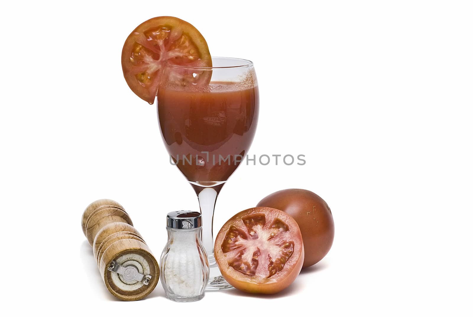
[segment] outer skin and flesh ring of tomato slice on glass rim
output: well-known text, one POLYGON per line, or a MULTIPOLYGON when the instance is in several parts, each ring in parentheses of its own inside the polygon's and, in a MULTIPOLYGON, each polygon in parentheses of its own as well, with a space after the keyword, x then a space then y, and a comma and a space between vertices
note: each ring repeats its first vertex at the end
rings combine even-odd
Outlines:
MULTIPOLYGON (((146 71, 147 68, 143 67, 143 65, 134 65, 131 63, 131 56, 133 55, 133 51, 135 49, 135 44, 140 43, 145 48, 149 50, 153 50, 152 45, 147 42, 145 33, 150 29, 157 28, 159 26, 167 26, 171 27, 172 31, 175 34, 183 35, 185 34, 195 45, 195 48, 198 51, 200 58, 193 60, 190 63, 185 63, 185 65, 193 66, 193 67, 211 67, 212 60, 209 53, 209 46, 205 41, 204 37, 201 33, 190 23, 181 20, 180 18, 175 17, 156 17, 150 18, 149 20, 141 23, 138 27, 136 27, 130 35, 127 37, 125 43, 123 44, 122 49, 122 70, 123 76, 130 87, 130 89, 142 100, 148 101, 148 103, 153 104, 156 92, 158 91, 158 84, 159 84, 159 72, 160 70, 153 71, 156 72, 155 78, 153 78, 151 83, 143 84, 140 83, 137 78, 135 77, 137 73, 146 71)), ((179 36, 175 37, 173 41, 178 41, 179 36)), ((158 46, 156 46, 158 47, 158 46)), ((158 53, 158 55, 162 55, 162 52, 154 52, 158 53)), ((162 67, 166 61, 166 59, 159 58, 160 66, 162 67)), ((181 63, 177 63, 180 64, 181 63)))

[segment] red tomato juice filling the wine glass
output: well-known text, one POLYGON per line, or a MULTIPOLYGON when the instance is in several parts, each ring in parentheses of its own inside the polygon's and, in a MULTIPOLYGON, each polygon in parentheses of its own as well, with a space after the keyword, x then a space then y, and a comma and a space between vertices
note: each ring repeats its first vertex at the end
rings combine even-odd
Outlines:
POLYGON ((258 109, 257 86, 212 82, 205 89, 158 90, 159 125, 167 151, 187 180, 200 186, 227 181, 238 161, 246 161, 258 109))

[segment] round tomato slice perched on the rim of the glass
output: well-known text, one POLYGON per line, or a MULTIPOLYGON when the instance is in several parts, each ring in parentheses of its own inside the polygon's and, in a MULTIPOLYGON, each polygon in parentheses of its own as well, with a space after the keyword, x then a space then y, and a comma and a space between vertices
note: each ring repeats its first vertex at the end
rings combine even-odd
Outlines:
MULTIPOLYGON (((151 18, 136 27, 123 45, 123 76, 138 97, 153 104, 166 62, 212 67, 207 42, 193 25, 174 17, 151 18)), ((210 78, 192 72, 182 72, 178 76, 184 84, 210 81, 210 78)))

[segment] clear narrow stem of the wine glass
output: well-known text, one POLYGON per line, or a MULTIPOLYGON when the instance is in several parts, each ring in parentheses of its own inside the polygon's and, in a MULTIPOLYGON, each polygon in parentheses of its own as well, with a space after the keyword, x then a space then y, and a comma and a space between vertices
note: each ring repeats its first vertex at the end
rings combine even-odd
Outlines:
POLYGON ((217 191, 212 187, 206 187, 197 196, 202 214, 202 245, 209 257, 210 267, 215 267, 215 257, 213 255, 213 212, 217 201, 217 191))

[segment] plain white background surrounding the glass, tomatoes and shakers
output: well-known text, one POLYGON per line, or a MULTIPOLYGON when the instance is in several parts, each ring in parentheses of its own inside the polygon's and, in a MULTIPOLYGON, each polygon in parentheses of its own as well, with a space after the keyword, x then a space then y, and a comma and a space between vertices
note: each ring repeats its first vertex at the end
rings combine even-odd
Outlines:
POLYGON ((308 3, 3 3, 1 309, 472 316, 471 1, 308 3), (184 304, 158 284, 120 302, 99 276, 80 229, 90 202, 119 201, 157 257, 166 213, 198 209, 168 163, 155 107, 122 75, 126 36, 161 15, 192 23, 212 55, 254 62, 251 155, 306 155, 304 166, 240 166, 215 227, 285 188, 312 190, 332 208, 332 250, 280 294, 232 290, 184 304))

